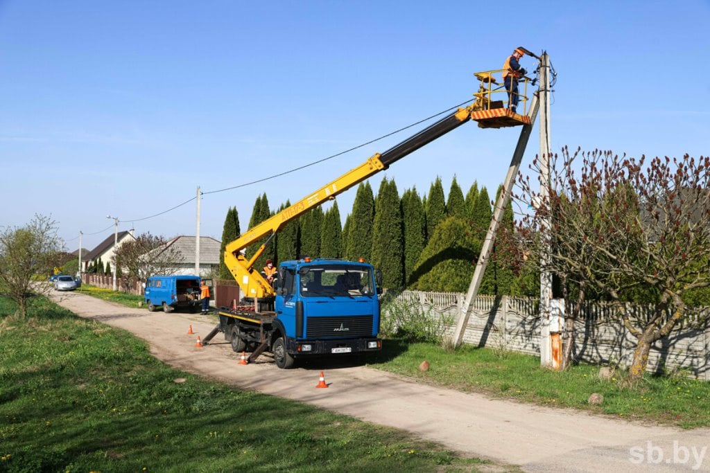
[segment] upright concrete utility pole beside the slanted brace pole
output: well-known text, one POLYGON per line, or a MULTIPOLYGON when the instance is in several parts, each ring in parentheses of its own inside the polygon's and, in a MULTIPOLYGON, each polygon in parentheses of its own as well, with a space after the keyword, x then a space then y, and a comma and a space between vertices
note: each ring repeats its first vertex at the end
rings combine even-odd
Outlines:
MULTIPOLYGON (((547 52, 540 58, 540 198, 546 205, 550 201, 550 57, 547 52)), ((550 221, 544 226, 550 228, 550 221)), ((549 242, 547 252, 550 252, 549 242)), ((559 311, 552 310, 552 273, 545 269, 547 256, 540 258, 540 365, 560 369, 562 321, 559 311)))

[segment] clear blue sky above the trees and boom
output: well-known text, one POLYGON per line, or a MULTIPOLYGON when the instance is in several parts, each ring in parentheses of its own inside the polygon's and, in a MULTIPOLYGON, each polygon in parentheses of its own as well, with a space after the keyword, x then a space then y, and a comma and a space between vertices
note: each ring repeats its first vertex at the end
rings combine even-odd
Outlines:
MULTIPOLYGON (((34 213, 68 250, 120 230, 195 234, 195 196, 300 167, 471 98, 515 46, 557 71, 552 150, 710 152, 710 2, 0 0, 0 225, 34 213), (101 231, 103 230, 103 231, 101 231), (93 233, 93 235, 91 235, 93 233)), ((534 68, 523 58, 523 66, 534 68)), ((421 128, 421 126, 419 127, 421 128)), ((418 128, 266 183, 205 195, 297 201, 418 128)), ((493 194, 519 128, 466 124, 371 178, 493 194)), ((523 168, 539 152, 533 130, 523 168)), ((339 196, 343 216, 355 191, 339 196)))

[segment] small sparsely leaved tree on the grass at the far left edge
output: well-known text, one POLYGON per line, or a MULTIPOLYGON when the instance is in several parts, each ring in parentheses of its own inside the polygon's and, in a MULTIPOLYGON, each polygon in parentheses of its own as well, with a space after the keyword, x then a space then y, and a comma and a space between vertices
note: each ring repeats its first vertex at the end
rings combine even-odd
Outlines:
POLYGON ((41 282, 58 265, 61 247, 57 225, 48 216, 35 214, 26 226, 0 233, 0 284, 23 317, 29 297, 50 289, 41 282))

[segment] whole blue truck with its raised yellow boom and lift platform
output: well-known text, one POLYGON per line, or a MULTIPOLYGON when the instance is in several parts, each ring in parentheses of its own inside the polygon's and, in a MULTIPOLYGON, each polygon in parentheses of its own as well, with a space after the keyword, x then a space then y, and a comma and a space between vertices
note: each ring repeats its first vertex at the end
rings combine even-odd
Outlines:
POLYGON ((475 120, 482 128, 501 128, 523 124, 521 120, 530 123, 528 117, 511 114, 505 108, 488 110, 491 107, 486 94, 476 94, 474 104, 459 108, 382 154, 372 155, 236 240, 225 242, 224 264, 244 299, 234 299, 231 306, 217 309, 219 324, 203 343, 221 331, 236 352, 251 352, 249 361, 270 350, 280 368, 292 367, 300 357, 339 357, 381 350, 378 296, 382 293, 382 277, 372 265, 361 260, 298 257, 280 263, 277 284, 273 285, 258 271, 256 262, 288 223, 462 124, 475 120), (490 120, 493 122, 488 123, 490 120), (246 249, 254 247, 248 257, 246 249))

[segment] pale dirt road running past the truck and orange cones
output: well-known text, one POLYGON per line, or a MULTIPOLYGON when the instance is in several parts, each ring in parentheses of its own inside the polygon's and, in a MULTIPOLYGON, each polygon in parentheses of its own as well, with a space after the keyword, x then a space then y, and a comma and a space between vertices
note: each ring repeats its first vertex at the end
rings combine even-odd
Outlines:
POLYGON ((214 327, 198 314, 150 313, 76 293, 53 293, 85 318, 143 338, 151 353, 187 372, 295 399, 364 421, 391 425, 466 455, 530 472, 710 471, 710 429, 650 427, 562 410, 487 399, 415 384, 366 367, 328 368, 329 389, 315 389, 320 368, 278 369, 268 356, 249 366, 224 342, 195 347, 214 327), (187 335, 189 325, 195 335, 187 335))

